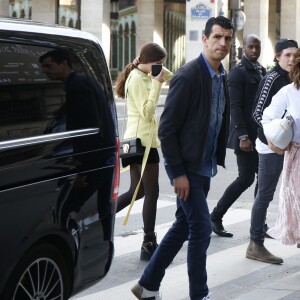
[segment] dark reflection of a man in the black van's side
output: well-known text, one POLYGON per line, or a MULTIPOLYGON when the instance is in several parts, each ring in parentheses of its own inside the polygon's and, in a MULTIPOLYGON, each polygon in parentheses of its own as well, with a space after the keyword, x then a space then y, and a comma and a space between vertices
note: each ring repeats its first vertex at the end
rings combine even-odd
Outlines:
POLYGON ((42 72, 50 80, 64 83, 65 104, 62 106, 61 114, 64 115, 65 130, 99 128, 98 134, 82 136, 80 141, 72 140, 78 171, 83 172, 95 164, 94 155, 99 158, 100 155, 96 151, 88 156, 78 153, 91 151, 100 146, 114 146, 115 127, 103 87, 94 78, 73 70, 72 55, 74 56, 70 51, 55 49, 42 55, 39 61, 42 72))

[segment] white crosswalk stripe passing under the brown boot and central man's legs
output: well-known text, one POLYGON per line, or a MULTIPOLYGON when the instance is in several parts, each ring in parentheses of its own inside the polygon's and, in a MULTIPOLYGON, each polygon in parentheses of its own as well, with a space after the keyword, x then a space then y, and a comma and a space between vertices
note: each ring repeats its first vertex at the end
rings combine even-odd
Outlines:
MULTIPOLYGON (((245 251, 247 245, 248 244, 246 243, 236 247, 231 247, 208 256, 207 270, 208 285, 210 288, 270 266, 269 264, 259 261, 246 259, 245 251), (226 276, 224 276, 224 273, 226 273, 226 276)), ((266 241, 266 247, 271 252, 281 256, 283 259, 299 254, 299 249, 296 247, 284 246, 275 240, 268 239, 266 241)), ((274 268, 280 268, 280 266, 274 265, 274 268)), ((133 296, 130 293, 130 288, 137 282, 137 280, 138 278, 89 296, 76 298, 76 300, 112 299, 112 295, 114 295, 114 300, 132 300, 133 296)), ((163 294, 163 299, 188 299, 186 263, 167 269, 166 275, 162 281, 161 292, 163 294), (175 283, 176 289, 168 288, 173 286, 175 283), (182 298, 179 298, 179 295, 182 298)))

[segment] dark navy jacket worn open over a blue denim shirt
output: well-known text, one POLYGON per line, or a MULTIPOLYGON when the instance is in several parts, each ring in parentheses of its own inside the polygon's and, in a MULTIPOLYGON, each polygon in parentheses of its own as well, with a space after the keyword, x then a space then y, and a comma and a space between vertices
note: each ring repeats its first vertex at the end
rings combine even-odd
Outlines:
MULTIPOLYGON (((224 167, 229 127, 229 97, 217 145, 217 163, 224 167)), ((201 170, 211 114, 212 81, 202 55, 182 66, 170 83, 160 119, 159 138, 163 156, 175 178, 201 170)))

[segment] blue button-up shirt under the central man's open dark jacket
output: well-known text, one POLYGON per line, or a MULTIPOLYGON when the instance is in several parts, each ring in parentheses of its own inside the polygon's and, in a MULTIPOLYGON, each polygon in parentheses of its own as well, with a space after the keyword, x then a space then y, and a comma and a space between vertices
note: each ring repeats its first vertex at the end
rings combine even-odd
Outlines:
POLYGON ((212 101, 207 144, 200 175, 213 177, 217 174, 217 142, 222 126, 226 101, 222 79, 222 76, 225 75, 225 70, 221 65, 219 69, 220 74, 217 75, 208 63, 204 53, 202 53, 202 55, 212 79, 212 101))

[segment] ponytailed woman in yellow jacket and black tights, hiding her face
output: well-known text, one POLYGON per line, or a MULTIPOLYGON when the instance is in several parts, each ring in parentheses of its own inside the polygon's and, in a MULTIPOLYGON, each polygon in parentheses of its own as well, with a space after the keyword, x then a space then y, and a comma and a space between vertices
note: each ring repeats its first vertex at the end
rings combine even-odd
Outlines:
MULTIPOLYGON (((155 110, 162 83, 170 80, 173 76, 173 73, 164 67, 157 76, 153 76, 151 68, 154 64, 162 65, 166 58, 167 52, 164 48, 155 43, 148 43, 141 49, 138 59, 125 67, 116 82, 117 95, 126 98, 128 118, 123 138, 138 137, 141 139, 143 147, 146 147, 150 130, 154 130, 152 141, 150 141, 151 148, 147 164, 136 197, 136 199, 145 197, 142 213, 144 241, 140 259, 146 261, 150 260, 157 248, 154 227, 159 194, 159 155, 157 148, 160 146, 160 142, 157 134, 158 121, 155 110)), ((122 159, 123 167, 130 166, 131 184, 129 190, 119 196, 117 211, 128 206, 132 200, 141 177, 142 160, 143 156, 122 159)))

